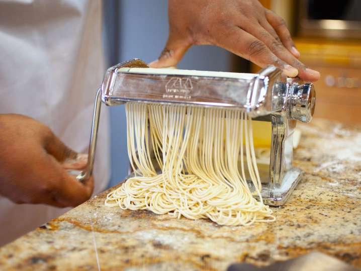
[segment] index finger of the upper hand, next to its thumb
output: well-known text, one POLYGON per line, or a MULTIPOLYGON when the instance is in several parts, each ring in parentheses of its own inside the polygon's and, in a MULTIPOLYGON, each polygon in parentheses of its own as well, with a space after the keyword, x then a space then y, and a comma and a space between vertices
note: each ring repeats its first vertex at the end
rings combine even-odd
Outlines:
POLYGON ((272 64, 282 69, 285 75, 289 77, 297 76, 298 70, 296 68, 278 58, 262 41, 239 27, 231 27, 219 33, 222 33, 222 36, 218 38, 220 41, 217 43, 218 46, 242 56, 260 67, 272 64))

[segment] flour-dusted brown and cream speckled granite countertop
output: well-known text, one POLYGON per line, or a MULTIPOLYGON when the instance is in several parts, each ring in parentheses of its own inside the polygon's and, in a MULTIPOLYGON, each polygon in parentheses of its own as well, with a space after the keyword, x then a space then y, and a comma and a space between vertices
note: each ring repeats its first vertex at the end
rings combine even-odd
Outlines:
POLYGON ((104 206, 104 192, 0 248, 2 270, 225 270, 318 250, 361 267, 361 127, 299 125, 305 173, 274 223, 218 226, 104 206))

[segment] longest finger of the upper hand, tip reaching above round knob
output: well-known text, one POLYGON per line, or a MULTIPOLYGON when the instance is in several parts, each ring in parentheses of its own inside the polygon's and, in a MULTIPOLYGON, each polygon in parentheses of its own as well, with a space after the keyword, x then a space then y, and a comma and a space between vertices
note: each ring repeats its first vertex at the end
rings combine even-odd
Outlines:
POLYGON ((293 54, 291 54, 286 47, 277 41, 271 34, 269 34, 260 25, 251 26, 249 28, 250 34, 262 41, 278 58, 282 59, 292 67, 298 69, 298 76, 305 81, 316 81, 319 79, 319 73, 307 67, 300 62, 293 54))

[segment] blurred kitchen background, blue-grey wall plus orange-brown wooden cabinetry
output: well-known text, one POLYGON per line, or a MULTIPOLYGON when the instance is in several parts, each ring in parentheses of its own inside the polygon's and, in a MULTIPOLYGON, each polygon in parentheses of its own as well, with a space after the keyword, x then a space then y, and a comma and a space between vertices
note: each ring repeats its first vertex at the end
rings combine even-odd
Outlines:
MULTIPOLYGON (((314 117, 361 123, 361 1, 262 0, 289 26, 300 60, 321 72, 315 83, 314 117)), ((104 41, 107 66, 134 57, 155 60, 168 36, 167 1, 105 0, 104 41)), ((181 69, 256 72, 259 67, 214 46, 192 47, 181 69)), ((112 175, 109 186, 127 175, 123 106, 110 108, 112 175)))

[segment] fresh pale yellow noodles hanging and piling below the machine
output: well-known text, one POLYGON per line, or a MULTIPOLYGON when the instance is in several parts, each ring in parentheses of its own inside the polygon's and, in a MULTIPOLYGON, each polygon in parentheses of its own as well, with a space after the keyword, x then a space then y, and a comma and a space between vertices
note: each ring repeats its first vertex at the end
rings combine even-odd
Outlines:
POLYGON ((246 113, 128 103, 126 114, 135 177, 108 194, 107 206, 209 218, 232 226, 275 219, 260 195, 251 119, 246 113), (252 197, 246 170, 259 201, 252 197))

